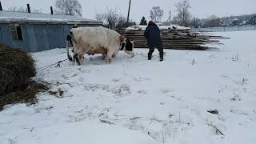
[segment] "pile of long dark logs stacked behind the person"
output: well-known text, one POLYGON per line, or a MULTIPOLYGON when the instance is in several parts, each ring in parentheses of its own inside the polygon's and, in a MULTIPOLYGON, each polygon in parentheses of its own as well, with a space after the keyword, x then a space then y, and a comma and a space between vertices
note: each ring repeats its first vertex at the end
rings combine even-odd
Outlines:
MULTIPOLYGON (((147 48, 144 30, 125 30, 121 34, 134 39, 134 48, 147 48)), ((221 39, 228 37, 194 32, 192 30, 161 30, 162 46, 174 50, 209 50, 210 45, 222 45, 221 39)))

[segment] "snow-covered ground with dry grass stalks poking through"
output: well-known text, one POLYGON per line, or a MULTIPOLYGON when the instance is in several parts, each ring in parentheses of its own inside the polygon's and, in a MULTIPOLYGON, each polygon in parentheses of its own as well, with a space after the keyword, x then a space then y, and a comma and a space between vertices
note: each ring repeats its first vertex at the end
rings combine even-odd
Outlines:
MULTIPOLYGON (((39 72, 57 94, 0 112, 0 144, 255 144, 256 31, 218 34, 231 38, 219 50, 165 50, 164 62, 136 49, 39 72)), ((42 67, 66 51, 33 56, 42 67)))

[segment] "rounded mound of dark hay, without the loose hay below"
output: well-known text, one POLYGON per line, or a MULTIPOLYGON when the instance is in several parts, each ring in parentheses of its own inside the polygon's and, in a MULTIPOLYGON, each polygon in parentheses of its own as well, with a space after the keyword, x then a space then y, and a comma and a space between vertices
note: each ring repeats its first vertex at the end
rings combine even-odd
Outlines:
POLYGON ((34 59, 30 54, 0 45, 0 95, 26 88, 35 74, 34 59))

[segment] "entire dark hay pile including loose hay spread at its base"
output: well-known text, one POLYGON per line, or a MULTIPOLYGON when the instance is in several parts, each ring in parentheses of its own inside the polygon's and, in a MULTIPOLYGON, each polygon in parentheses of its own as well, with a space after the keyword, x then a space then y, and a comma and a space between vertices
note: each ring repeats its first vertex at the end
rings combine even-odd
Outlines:
POLYGON ((35 102, 38 90, 46 89, 30 80, 35 74, 30 54, 0 44, 0 110, 6 104, 35 102))

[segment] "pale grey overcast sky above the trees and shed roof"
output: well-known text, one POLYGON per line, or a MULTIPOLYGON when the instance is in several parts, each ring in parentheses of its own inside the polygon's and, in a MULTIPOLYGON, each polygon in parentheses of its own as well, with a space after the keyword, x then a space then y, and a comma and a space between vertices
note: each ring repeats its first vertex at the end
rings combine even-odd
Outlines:
MULTIPOLYGON (((25 6, 42 9, 44 13, 50 13, 50 6, 54 6, 55 0, 0 0, 4 10, 10 6, 25 6)), ((142 16, 149 19, 152 6, 160 6, 164 10, 162 21, 166 21, 171 10, 175 14, 174 4, 180 0, 132 0, 130 18, 139 22, 142 16)), ((96 13, 106 11, 107 7, 117 7, 120 14, 127 15, 129 0, 79 0, 82 4, 82 17, 95 18, 96 13)), ((228 16, 235 14, 256 13, 256 0, 190 0, 190 12, 198 18, 206 18, 212 14, 228 16)))

